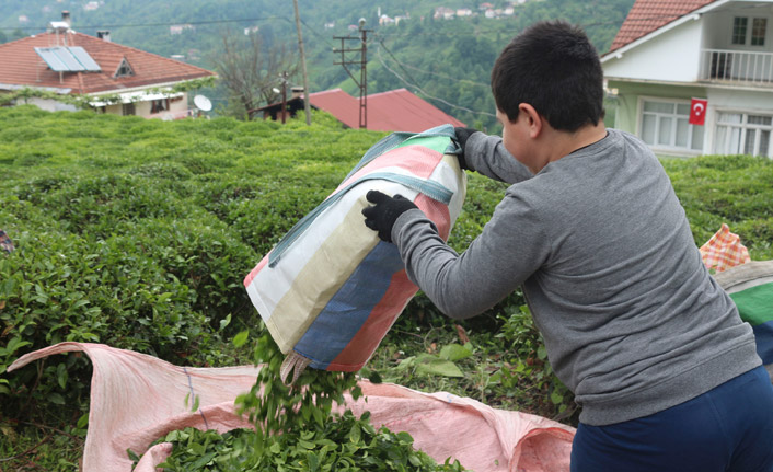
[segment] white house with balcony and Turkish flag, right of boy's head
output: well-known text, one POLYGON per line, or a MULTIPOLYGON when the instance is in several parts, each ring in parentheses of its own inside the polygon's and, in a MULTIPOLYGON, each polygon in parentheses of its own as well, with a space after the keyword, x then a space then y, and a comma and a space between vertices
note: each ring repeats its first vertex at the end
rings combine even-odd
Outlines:
POLYGON ((659 156, 773 157, 771 1, 636 0, 601 57, 615 127, 659 156))

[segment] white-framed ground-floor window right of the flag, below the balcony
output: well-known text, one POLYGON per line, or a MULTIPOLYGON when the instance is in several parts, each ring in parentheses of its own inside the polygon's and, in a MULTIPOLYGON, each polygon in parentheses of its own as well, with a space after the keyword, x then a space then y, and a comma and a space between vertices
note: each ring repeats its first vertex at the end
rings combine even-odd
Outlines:
POLYGON ((717 115, 717 154, 751 154, 773 157, 771 131, 773 116, 720 112, 717 115))

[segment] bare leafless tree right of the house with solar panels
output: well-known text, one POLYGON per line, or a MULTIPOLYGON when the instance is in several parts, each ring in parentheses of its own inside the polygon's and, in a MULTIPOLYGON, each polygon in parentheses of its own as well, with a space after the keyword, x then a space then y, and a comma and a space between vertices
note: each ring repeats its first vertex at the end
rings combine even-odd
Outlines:
MULTIPOLYGON (((222 48, 211 57, 220 81, 228 90, 231 110, 250 112, 276 96, 273 89, 281 88, 281 74, 298 72, 297 57, 284 45, 264 47, 259 34, 246 36, 223 33, 222 48)), ((289 92, 289 90, 288 90, 289 92)))

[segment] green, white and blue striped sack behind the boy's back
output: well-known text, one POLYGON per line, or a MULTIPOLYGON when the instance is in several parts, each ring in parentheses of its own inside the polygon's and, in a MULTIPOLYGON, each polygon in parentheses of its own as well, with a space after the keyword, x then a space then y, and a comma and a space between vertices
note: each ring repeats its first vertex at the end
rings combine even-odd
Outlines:
POLYGON ((754 330, 757 354, 773 378, 773 261, 752 261, 714 276, 754 330))

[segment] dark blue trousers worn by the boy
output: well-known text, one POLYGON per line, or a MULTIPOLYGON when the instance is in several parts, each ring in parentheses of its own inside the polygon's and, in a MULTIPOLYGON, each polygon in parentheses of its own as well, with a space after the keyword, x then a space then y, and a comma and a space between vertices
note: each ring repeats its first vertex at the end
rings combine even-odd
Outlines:
POLYGON ((773 385, 763 367, 650 416, 580 424, 572 472, 773 472, 773 385))

